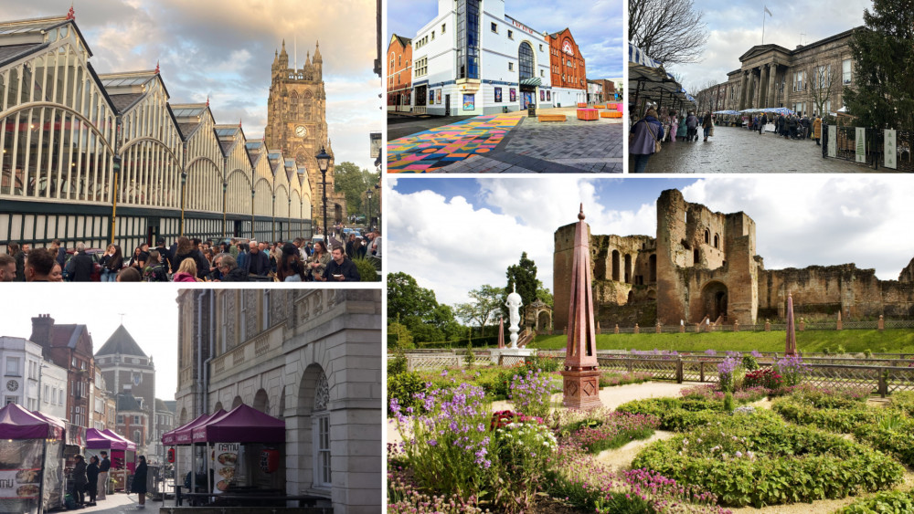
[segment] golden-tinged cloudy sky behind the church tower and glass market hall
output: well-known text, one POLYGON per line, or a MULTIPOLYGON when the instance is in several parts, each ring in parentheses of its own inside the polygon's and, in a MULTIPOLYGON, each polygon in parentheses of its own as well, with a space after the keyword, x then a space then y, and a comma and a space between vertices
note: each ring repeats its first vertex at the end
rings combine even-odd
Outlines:
MULTIPOLYGON (((66 15, 71 0, 4 1, 2 19, 66 15)), ((243 122, 249 139, 267 123, 274 50, 303 66, 321 43, 327 124, 336 163, 374 170, 368 132, 384 126, 374 0, 76 0, 76 22, 99 73, 154 69, 172 103, 204 102, 218 123, 243 122)))

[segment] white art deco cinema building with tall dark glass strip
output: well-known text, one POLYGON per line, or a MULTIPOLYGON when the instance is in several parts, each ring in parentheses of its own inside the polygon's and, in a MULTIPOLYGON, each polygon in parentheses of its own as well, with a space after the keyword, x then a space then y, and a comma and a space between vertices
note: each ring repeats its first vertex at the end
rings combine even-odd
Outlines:
POLYGON ((412 39, 414 112, 552 107, 547 37, 505 15, 505 0, 439 0, 438 16, 412 39))

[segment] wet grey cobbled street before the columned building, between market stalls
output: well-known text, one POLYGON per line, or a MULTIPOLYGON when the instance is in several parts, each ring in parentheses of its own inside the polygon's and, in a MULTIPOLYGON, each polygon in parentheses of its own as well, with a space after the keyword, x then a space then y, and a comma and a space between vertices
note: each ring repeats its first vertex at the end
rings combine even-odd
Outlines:
MULTIPOLYGON (((823 159, 813 140, 794 141, 773 133, 738 127, 715 127, 714 137, 702 142, 664 142, 651 157, 647 173, 875 173, 866 166, 823 159)), ((633 170, 633 159, 629 160, 633 170)), ((879 170, 884 173, 885 170, 879 170)))

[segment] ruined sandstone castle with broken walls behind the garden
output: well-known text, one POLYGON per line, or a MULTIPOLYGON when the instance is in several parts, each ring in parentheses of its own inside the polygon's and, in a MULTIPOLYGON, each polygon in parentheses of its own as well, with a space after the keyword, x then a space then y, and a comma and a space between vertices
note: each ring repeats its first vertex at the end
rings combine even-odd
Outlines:
MULTIPOLYGON (((755 222, 713 212, 675 189, 657 200, 656 236, 590 235, 600 325, 754 324, 782 319, 788 294, 799 315, 848 319, 914 315, 914 261, 898 280, 854 264, 765 269, 755 222)), ((555 330, 568 324, 574 225, 555 233, 555 330)))

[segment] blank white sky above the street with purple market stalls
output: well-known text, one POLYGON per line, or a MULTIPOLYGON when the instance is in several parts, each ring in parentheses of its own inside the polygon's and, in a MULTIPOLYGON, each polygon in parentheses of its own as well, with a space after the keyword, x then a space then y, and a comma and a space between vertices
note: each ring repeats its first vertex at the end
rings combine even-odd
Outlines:
POLYGON ((6 284, 0 336, 28 339, 32 318, 50 314, 55 323, 86 325, 94 351, 121 325, 155 364, 155 397, 174 400, 177 390, 177 288, 149 284, 6 284))

